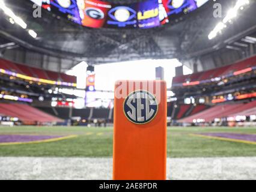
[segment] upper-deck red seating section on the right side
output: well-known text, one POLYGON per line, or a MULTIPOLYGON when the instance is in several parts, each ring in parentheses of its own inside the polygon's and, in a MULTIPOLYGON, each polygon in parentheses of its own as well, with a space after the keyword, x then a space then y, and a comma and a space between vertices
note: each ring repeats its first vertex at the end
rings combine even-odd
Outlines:
POLYGON ((243 70, 253 66, 256 66, 256 56, 245 59, 243 61, 236 62, 235 64, 226 65, 224 67, 219 67, 219 68, 215 68, 212 70, 203 71, 199 73, 193 73, 186 76, 177 76, 177 77, 174 77, 174 79, 172 80, 172 84, 184 83, 187 80, 189 82, 195 82, 198 80, 206 80, 206 79, 212 79, 215 77, 222 77, 222 76, 234 73, 235 71, 243 70))

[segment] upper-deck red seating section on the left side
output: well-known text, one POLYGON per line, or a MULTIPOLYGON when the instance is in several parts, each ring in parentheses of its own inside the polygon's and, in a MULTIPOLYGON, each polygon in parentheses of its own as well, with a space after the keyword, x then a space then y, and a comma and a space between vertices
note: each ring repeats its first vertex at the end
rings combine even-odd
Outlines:
POLYGON ((76 83, 75 76, 69 76, 64 73, 57 73, 55 71, 42 70, 35 67, 29 67, 28 65, 16 64, 5 59, 0 59, 0 68, 4 70, 13 71, 15 73, 25 74, 30 77, 37 77, 40 79, 48 79, 55 81, 62 81, 68 83, 76 83))

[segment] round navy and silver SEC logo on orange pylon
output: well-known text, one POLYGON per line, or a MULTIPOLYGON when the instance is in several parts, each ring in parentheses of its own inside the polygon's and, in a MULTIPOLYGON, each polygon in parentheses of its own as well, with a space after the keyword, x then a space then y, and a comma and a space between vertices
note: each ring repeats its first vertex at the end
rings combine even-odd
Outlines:
POLYGON ((135 124, 147 124, 156 116, 158 103, 153 94, 138 90, 124 100, 124 115, 135 124))

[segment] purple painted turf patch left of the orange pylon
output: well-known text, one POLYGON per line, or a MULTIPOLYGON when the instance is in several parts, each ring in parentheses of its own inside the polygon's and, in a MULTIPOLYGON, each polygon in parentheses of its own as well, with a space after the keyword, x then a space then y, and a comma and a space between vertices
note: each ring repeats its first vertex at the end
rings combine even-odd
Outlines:
POLYGON ((1 134, 0 143, 13 143, 13 142, 33 142, 37 140, 46 140, 59 138, 62 136, 33 136, 33 135, 19 135, 19 134, 1 134))

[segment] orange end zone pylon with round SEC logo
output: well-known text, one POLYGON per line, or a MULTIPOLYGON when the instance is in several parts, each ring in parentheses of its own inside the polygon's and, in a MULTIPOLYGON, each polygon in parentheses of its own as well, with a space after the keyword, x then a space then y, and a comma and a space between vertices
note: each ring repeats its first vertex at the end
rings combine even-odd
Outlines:
POLYGON ((118 81, 113 179, 166 179, 166 82, 118 81))

